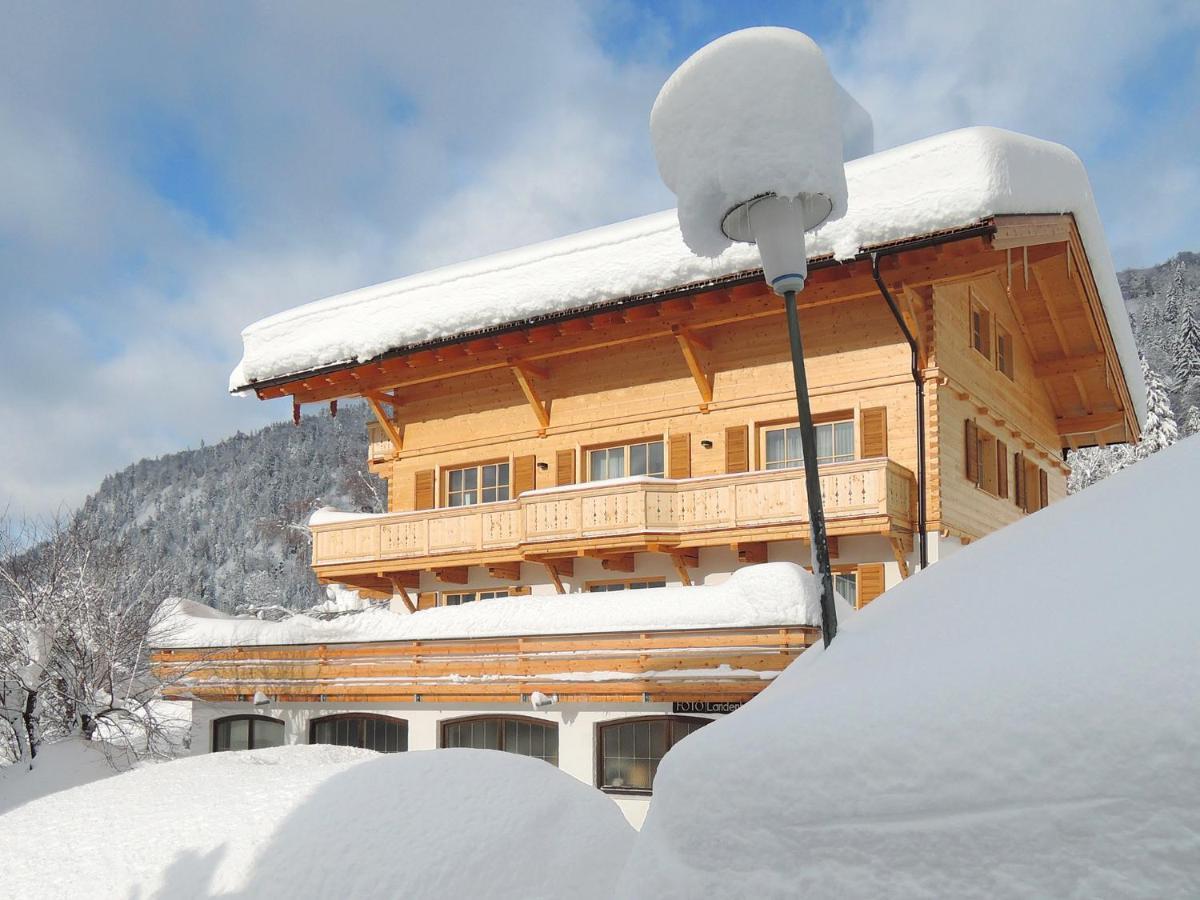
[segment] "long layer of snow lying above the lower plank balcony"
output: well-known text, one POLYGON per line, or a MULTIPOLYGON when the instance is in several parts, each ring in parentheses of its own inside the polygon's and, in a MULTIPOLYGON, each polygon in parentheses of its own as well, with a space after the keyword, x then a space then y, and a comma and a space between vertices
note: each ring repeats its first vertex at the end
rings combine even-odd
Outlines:
MULTIPOLYGON (((793 563, 764 563, 721 584, 611 594, 511 596, 401 616, 366 610, 332 620, 236 618, 190 600, 168 600, 158 647, 234 647, 439 637, 569 635, 659 629, 820 625, 820 587, 793 563)), ((842 616, 850 613, 844 605, 842 616)))

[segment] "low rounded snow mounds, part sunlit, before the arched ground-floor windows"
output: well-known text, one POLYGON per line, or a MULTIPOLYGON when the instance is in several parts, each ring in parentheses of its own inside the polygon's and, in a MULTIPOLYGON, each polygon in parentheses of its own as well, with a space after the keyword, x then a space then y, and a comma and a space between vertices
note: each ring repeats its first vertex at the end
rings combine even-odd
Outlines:
POLYGON ((151 766, 0 817, 7 896, 612 895, 634 830, 541 760, 332 746, 151 766))

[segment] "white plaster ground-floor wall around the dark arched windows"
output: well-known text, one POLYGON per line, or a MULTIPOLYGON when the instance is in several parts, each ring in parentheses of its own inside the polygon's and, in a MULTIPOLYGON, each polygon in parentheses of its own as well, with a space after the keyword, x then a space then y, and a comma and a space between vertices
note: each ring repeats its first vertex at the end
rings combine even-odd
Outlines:
MULTIPOLYGON (((670 713, 670 703, 572 703, 550 709, 528 706, 454 703, 433 707, 425 703, 274 703, 256 707, 252 703, 193 703, 192 752, 206 754, 212 749, 212 721, 227 715, 266 715, 283 721, 284 742, 308 743, 308 722, 334 713, 373 713, 392 715, 408 721, 408 750, 436 750, 442 722, 463 715, 510 714, 545 719, 558 724, 558 767, 587 785, 595 784, 595 728, 604 721, 629 716, 670 713)), ((716 716, 707 716, 709 719, 716 716)), ((646 796, 610 794, 635 828, 641 828, 650 806, 646 796)))

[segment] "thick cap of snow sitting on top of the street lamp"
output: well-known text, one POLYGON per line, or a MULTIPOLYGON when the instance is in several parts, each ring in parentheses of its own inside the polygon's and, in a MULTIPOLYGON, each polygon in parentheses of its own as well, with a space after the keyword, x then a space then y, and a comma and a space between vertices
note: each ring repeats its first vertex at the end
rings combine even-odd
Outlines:
POLYGON ((754 197, 821 194, 846 214, 838 85, 824 54, 790 28, 716 38, 679 66, 650 110, 659 173, 700 256, 730 246, 725 214, 754 197))

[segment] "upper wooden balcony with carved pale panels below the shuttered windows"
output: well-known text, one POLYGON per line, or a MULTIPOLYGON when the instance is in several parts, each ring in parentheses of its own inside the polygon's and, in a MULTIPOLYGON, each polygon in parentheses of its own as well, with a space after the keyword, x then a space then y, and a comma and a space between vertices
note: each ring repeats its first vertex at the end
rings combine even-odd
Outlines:
MULTIPOLYGON (((821 496, 830 535, 911 535, 914 479, 892 460, 823 466, 821 496)), ((803 469, 596 481, 312 532, 317 575, 354 583, 347 576, 803 539, 808 498, 803 469)))

